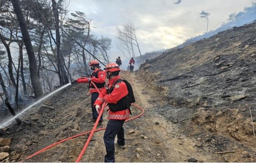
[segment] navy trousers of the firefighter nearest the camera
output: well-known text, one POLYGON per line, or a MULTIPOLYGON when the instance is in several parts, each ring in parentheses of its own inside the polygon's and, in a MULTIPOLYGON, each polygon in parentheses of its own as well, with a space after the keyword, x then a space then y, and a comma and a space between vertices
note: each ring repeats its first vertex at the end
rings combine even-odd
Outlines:
POLYGON ((106 146, 107 155, 104 162, 115 162, 115 137, 117 135, 117 143, 125 145, 125 130, 123 128, 125 120, 110 119, 107 123, 107 128, 104 133, 104 143, 106 146))

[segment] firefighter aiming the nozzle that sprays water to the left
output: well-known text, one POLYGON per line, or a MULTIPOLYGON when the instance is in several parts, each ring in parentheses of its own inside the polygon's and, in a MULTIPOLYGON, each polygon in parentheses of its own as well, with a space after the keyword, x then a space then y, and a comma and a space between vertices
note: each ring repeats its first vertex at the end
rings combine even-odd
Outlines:
MULTIPOLYGON (((89 66, 91 67, 91 70, 93 70, 92 75, 89 78, 80 77, 76 80, 76 82, 89 83, 89 91, 92 94, 91 96, 92 118, 91 120, 88 120, 88 123, 93 123, 98 118, 98 112, 93 105, 96 99, 98 98, 99 93, 91 82, 94 82, 96 87, 99 90, 102 90, 105 87, 106 73, 102 69, 100 69, 99 62, 97 60, 90 61, 89 66)), ((100 118, 99 125, 101 125, 101 123, 102 123, 102 116, 100 118)))

